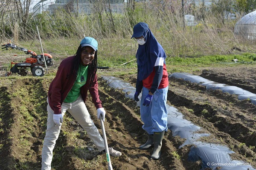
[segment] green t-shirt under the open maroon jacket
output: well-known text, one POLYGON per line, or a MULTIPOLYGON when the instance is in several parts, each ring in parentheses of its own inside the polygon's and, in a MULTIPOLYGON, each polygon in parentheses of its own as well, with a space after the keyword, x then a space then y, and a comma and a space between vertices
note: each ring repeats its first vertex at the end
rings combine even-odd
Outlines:
POLYGON ((87 73, 88 73, 88 65, 83 66, 80 64, 79 66, 79 74, 76 77, 76 81, 71 88, 70 92, 67 94, 67 97, 64 99, 65 103, 72 103, 75 102, 76 99, 80 95, 80 88, 85 85, 87 80, 87 73))

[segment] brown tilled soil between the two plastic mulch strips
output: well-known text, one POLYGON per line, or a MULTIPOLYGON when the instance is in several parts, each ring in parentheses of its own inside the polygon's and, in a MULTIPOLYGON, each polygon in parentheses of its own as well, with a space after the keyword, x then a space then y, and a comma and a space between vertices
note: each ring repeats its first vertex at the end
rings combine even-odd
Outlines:
MULTIPOLYGON (((247 111, 248 109, 250 110, 250 108, 245 108, 243 105, 240 105, 241 108, 238 108, 236 105, 230 104, 229 99, 232 99, 231 96, 234 95, 224 94, 221 91, 218 91, 218 93, 215 93, 215 91, 198 91, 195 83, 172 79, 171 84, 172 85, 169 86, 168 100, 172 105, 182 110, 192 122, 204 127, 211 133, 224 132, 229 134, 233 140, 239 141, 239 145, 243 146, 243 144, 246 144, 247 147, 245 149, 246 151, 243 151, 244 154, 255 160, 256 132, 253 128, 247 126, 247 122, 251 122, 251 119, 247 120, 246 118, 251 114, 247 111), (216 99, 218 103, 215 102, 216 99), (230 110, 235 110, 236 113, 230 110), (246 115, 243 117, 243 120, 238 118, 241 113, 246 115), (195 116, 197 116, 197 118, 195 118, 195 116), (209 125, 207 125, 207 122, 209 125), (213 126, 219 132, 214 132, 214 130, 212 130, 213 126)), ((233 99, 231 100, 232 102, 233 99)), ((238 100, 236 102, 239 103, 238 100)), ((253 105, 251 106, 253 107, 253 105)), ((252 125, 255 125, 255 121, 253 121, 252 125)))

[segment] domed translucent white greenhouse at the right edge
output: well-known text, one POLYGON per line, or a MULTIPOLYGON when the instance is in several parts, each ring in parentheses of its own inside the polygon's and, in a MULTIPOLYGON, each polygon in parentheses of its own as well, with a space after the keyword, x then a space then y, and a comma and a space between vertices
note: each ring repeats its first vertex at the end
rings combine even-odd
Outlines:
POLYGON ((235 25, 234 33, 248 40, 256 40, 256 11, 241 17, 235 25))

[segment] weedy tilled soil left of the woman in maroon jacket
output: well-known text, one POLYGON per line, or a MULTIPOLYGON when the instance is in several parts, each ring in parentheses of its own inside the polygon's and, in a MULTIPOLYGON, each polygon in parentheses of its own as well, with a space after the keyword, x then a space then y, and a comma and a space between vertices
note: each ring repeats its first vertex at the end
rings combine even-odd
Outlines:
MULTIPOLYGON (((45 85, 49 81, 45 79, 43 82, 45 85)), ((1 93, 6 99, 6 103, 2 103, 5 113, 2 116, 8 117, 1 118, 6 122, 1 141, 4 140, 6 144, 1 154, 3 158, 0 159, 4 167, 0 169, 40 166, 47 120, 47 88, 43 88, 43 84, 42 79, 17 79, 1 93)))

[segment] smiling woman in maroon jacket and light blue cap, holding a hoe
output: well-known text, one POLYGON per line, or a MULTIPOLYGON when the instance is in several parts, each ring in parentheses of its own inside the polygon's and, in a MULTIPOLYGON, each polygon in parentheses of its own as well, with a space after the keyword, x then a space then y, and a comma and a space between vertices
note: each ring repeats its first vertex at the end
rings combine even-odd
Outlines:
MULTIPOLYGON (((105 110, 99 99, 97 81, 98 42, 92 37, 81 40, 76 54, 64 59, 52 80, 47 97, 47 130, 42 149, 42 170, 50 170, 52 151, 61 131, 61 124, 66 111, 86 130, 97 149, 104 153, 105 145, 102 136, 85 106, 89 91, 97 109, 97 117, 102 115, 105 121, 105 110)), ((109 154, 117 157, 122 153, 109 147, 109 154)))

